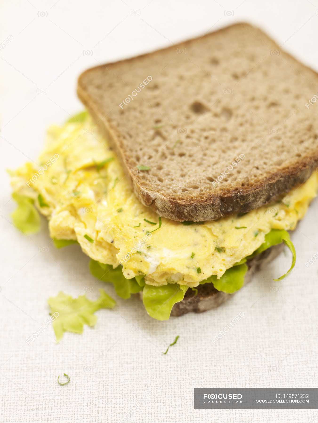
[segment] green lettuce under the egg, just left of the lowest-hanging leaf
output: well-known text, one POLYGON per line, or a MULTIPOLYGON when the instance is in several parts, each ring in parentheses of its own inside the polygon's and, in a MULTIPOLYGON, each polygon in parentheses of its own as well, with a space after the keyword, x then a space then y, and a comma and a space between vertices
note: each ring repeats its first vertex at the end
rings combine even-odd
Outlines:
POLYGON ((130 294, 136 294, 142 290, 135 278, 126 279, 122 273, 122 266, 113 269, 110 264, 103 264, 95 260, 89 262, 91 274, 103 282, 112 283, 116 294, 124 299, 130 298, 130 294))

